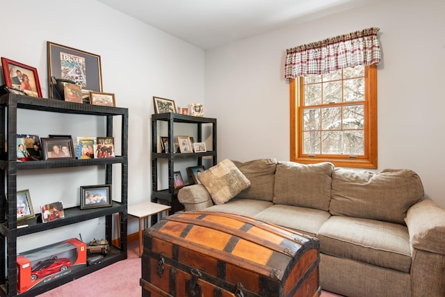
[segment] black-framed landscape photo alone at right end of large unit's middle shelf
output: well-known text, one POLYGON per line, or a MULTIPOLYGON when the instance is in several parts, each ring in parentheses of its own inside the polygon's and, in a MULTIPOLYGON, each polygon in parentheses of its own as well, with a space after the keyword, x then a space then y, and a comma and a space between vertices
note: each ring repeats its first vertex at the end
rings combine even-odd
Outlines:
POLYGON ((81 209, 111 207, 111 184, 81 186, 81 209))

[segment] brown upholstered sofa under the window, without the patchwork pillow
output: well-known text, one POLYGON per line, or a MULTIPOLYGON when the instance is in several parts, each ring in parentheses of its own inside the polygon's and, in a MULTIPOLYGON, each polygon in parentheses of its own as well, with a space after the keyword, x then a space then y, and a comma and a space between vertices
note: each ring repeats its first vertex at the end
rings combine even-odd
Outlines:
MULTIPOLYGON (((349 170, 331 163, 233 161, 250 181, 214 204, 202 184, 178 193, 186 211, 223 211, 320 239, 323 290, 344 296, 445 296, 445 211, 412 170, 349 170)), ((233 182, 236 184, 236 182, 233 182)))

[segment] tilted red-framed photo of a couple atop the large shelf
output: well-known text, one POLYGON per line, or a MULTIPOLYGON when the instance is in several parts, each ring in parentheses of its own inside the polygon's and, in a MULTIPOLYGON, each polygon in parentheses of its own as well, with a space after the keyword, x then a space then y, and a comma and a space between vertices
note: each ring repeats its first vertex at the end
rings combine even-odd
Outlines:
MULTIPOLYGON (((39 76, 35 67, 3 57, 1 58, 1 66, 8 88, 19 90, 31 97, 42 97, 39 76)), ((19 95, 22 94, 19 93, 19 95)))

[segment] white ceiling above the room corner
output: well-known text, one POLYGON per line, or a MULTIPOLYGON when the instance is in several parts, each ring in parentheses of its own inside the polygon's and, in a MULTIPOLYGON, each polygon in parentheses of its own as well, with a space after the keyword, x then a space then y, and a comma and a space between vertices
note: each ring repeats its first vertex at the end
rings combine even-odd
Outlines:
POLYGON ((97 0, 201 49, 375 0, 97 0))

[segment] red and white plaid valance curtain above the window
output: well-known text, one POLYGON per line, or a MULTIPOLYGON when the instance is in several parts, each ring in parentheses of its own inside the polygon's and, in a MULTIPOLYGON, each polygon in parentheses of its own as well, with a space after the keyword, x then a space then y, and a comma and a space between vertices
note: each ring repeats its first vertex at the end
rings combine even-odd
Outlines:
POLYGON ((323 74, 356 65, 380 63, 380 29, 370 28, 287 49, 284 77, 323 74))

